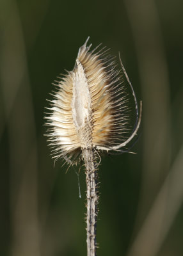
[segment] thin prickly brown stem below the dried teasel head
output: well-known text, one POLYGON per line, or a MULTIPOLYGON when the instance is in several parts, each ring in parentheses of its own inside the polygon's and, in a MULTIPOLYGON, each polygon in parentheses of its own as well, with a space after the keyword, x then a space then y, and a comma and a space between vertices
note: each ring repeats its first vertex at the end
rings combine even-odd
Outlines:
POLYGON ((97 205, 99 200, 97 187, 97 164, 92 148, 84 148, 83 159, 86 168, 86 197, 87 197, 87 216, 86 216, 86 231, 87 231, 87 255, 96 256, 96 234, 97 234, 97 205))

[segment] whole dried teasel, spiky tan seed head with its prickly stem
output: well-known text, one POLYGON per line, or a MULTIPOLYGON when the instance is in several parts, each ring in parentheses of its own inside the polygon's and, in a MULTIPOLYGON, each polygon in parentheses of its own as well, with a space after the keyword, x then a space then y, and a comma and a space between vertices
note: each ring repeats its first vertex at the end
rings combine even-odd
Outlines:
POLYGON ((89 37, 79 48, 74 69, 54 83, 57 89, 45 118, 55 161, 61 158, 69 166, 84 162, 87 255, 95 256, 100 152, 128 151, 126 147, 139 129, 141 107, 138 111, 136 95, 121 59, 122 69, 118 70, 109 49, 99 49, 100 44, 90 51, 92 44, 87 46, 88 40, 89 37), (129 95, 124 80, 131 87, 136 109, 136 123, 129 136, 129 95))

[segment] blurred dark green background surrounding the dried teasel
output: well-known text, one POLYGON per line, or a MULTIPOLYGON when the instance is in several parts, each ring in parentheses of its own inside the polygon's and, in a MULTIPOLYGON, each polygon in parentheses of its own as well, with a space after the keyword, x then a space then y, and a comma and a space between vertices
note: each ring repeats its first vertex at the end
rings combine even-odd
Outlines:
POLYGON ((100 165, 98 255, 183 255, 183 2, 0 1, 0 255, 86 255, 85 177, 53 166, 44 107, 90 35, 143 100, 137 154, 100 165))

